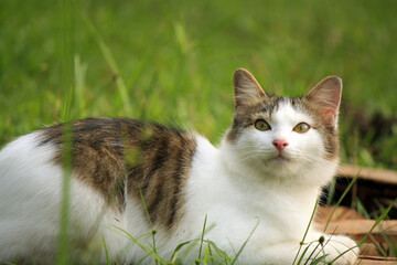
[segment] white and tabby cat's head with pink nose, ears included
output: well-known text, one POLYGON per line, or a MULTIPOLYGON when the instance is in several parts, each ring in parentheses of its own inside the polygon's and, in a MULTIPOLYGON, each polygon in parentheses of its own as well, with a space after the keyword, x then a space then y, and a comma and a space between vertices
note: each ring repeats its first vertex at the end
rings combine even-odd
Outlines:
POLYGON ((339 77, 288 98, 267 95, 248 71, 237 70, 234 89, 234 121, 223 144, 229 162, 259 178, 309 178, 319 184, 332 178, 339 162, 339 77))

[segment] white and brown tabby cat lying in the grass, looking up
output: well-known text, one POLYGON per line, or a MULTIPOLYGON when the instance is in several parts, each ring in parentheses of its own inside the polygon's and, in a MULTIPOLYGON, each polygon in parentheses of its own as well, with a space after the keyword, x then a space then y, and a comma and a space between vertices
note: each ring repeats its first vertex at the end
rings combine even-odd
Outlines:
POLYGON ((302 255, 354 264, 354 241, 308 229, 339 163, 341 80, 277 97, 239 68, 234 92, 233 124, 218 148, 196 132, 127 118, 55 125, 7 145, 0 263, 54 263, 69 172, 73 261, 192 264, 206 242, 242 264, 293 264, 302 255))

